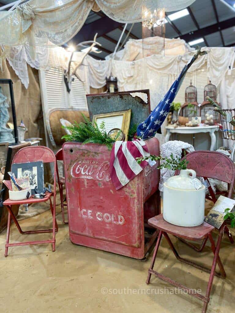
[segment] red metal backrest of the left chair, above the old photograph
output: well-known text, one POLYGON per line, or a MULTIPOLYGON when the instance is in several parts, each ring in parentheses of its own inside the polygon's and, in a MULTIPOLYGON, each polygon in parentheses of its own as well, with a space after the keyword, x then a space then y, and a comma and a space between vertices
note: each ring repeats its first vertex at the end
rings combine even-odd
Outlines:
POLYGON ((43 161, 44 163, 54 162, 54 152, 45 146, 30 146, 20 149, 13 157, 12 163, 26 163, 43 161))

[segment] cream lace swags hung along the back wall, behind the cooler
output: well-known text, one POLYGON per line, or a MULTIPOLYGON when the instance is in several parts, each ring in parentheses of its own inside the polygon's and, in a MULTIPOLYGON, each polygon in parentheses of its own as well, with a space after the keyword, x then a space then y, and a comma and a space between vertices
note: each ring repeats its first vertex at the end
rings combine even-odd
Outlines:
MULTIPOLYGON (((176 39, 168 40, 169 46, 170 41, 172 41, 173 46, 175 46, 176 39)), ((135 40, 131 41, 132 45, 134 45, 134 41, 135 40)), ((138 40, 136 40, 136 42, 138 42, 138 40)), ((50 69, 51 67, 60 67, 63 69, 67 67, 70 53, 54 45, 51 45, 51 47, 54 48, 48 49, 46 45, 40 46, 40 42, 37 40, 35 58, 32 58, 30 54, 30 45, 24 44, 4 50, 2 56, 0 52, 0 61, 1 58, 7 57, 10 65, 27 88, 29 85, 27 63, 31 67, 42 70, 50 69)), ((128 44, 127 47, 129 47, 128 44)), ((125 47, 124 50, 126 49, 125 47)), ((207 47, 203 49, 207 51, 207 54, 198 58, 189 69, 189 72, 200 69, 206 63, 208 77, 212 81, 212 84, 218 86, 229 71, 229 66, 232 67, 233 65, 235 49, 233 47, 207 47)), ((180 51, 181 50, 184 50, 182 45, 180 45, 180 51)), ((170 86, 174 80, 174 75, 179 75, 183 66, 192 55, 195 54, 195 50, 190 51, 185 48, 185 51, 186 54, 181 56, 178 54, 166 55, 165 57, 156 56, 155 58, 148 57, 136 61, 112 59, 102 61, 93 59, 88 55, 84 61, 88 66, 83 67, 82 70, 86 71, 88 75, 86 84, 93 88, 98 89, 103 87, 106 84, 106 77, 110 76, 111 73, 118 78, 118 88, 120 91, 149 88, 152 90, 151 94, 154 94, 154 105, 156 101, 161 99, 165 88, 167 90, 168 86, 170 86), (161 90, 163 85, 164 90, 161 90)), ((87 87, 86 90, 89 92, 89 87, 87 87)))

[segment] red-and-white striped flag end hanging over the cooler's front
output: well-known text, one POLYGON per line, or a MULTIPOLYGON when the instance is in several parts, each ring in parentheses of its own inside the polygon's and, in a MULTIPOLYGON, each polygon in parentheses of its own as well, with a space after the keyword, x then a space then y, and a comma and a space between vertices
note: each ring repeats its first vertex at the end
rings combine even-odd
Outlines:
POLYGON ((144 167, 147 161, 137 163, 137 157, 149 156, 149 150, 142 139, 116 141, 110 155, 110 176, 116 190, 125 186, 144 167))

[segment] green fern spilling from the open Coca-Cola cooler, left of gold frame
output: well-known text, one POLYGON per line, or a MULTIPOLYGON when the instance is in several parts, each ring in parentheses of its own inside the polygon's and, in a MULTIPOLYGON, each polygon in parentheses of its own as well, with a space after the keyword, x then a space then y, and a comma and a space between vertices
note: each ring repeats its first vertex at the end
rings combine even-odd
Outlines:
POLYGON ((79 141, 82 142, 83 145, 87 143, 104 144, 109 150, 111 150, 113 143, 118 139, 120 133, 118 132, 117 136, 112 139, 107 135, 104 121, 102 121, 100 127, 98 127, 96 122, 93 125, 89 118, 84 114, 82 114, 82 117, 84 118, 85 123, 77 123, 74 121, 73 125, 62 126, 62 128, 68 129, 71 132, 71 135, 65 135, 62 139, 65 139, 65 141, 79 141))

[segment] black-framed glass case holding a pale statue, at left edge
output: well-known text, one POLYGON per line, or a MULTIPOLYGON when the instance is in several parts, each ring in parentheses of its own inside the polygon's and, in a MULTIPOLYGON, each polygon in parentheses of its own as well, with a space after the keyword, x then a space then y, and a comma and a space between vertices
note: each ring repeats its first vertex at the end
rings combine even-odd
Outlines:
POLYGON ((13 82, 0 79, 0 143, 18 144, 13 82))

